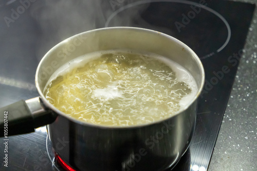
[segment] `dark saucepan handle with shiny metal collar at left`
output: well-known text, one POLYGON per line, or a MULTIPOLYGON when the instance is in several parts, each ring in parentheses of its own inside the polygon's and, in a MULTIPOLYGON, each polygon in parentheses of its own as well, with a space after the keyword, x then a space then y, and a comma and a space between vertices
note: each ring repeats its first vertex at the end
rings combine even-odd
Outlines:
POLYGON ((0 108, 0 116, 0 137, 4 137, 34 132, 35 128, 52 123, 57 114, 35 97, 0 108))

